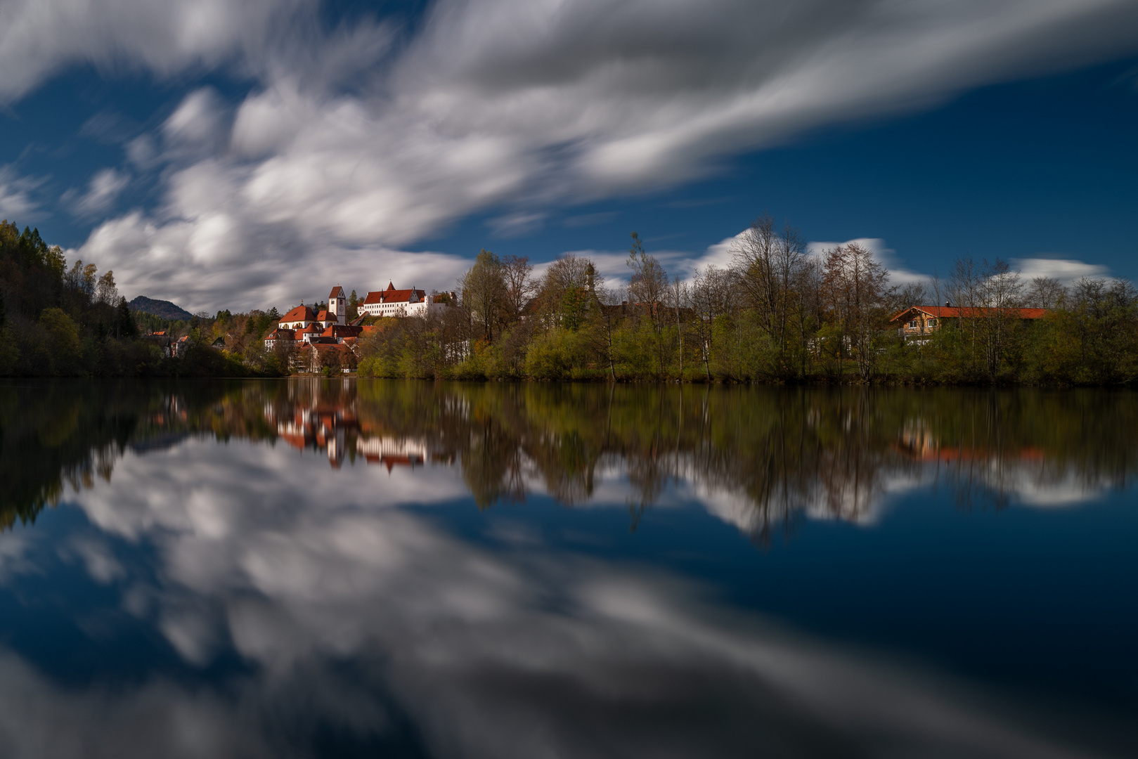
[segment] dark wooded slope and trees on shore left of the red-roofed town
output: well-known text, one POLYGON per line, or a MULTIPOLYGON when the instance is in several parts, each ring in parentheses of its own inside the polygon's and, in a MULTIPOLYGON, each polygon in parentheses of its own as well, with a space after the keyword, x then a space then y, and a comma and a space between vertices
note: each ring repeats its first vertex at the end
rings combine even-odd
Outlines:
POLYGON ((68 265, 39 230, 0 222, 0 376, 280 376, 287 362, 266 354, 263 341, 278 317, 275 310, 226 311, 171 322, 133 313, 114 272, 68 265), (148 338, 155 330, 167 336, 148 338), (165 344, 180 337, 187 340, 171 360, 165 344))

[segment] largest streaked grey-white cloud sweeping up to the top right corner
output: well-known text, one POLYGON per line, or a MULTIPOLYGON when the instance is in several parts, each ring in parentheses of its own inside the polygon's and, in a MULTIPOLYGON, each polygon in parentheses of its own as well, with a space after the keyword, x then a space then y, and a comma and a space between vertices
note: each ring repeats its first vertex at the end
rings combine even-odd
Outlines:
MULTIPOLYGON (((220 267, 231 287, 209 305, 255 306, 234 298, 263 289, 266 257, 331 271, 330 251, 405 248, 503 204, 526 207, 492 228, 523 230, 514 222, 533 225, 556 203, 687 181, 805 129, 1132 49, 1138 8, 440 0, 397 47, 371 20, 319 28, 302 0, 15 3, 0 36, 9 97, 79 60, 163 76, 232 64, 255 82, 232 124, 203 100, 213 96, 190 96, 162 127, 163 204, 97 229, 82 255, 125 234, 139 264, 116 274, 149 292, 168 271, 142 265, 157 254, 138 247, 135 228, 173 250, 195 240, 185 225, 224 216, 240 245, 180 248, 180 274, 216 279, 220 267)), ((155 149, 137 142, 132 160, 149 165, 155 149)))

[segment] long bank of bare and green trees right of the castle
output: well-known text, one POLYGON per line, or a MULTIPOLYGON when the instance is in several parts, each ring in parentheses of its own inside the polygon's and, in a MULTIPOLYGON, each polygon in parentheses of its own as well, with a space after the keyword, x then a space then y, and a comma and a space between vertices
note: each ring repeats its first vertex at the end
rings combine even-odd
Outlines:
POLYGON ((684 280, 636 233, 627 288, 564 254, 541 277, 483 250, 460 303, 428 319, 380 319, 361 376, 691 382, 1125 385, 1138 377, 1138 291, 1124 280, 1021 278, 958 259, 946 279, 898 286, 857 244, 810 255, 790 225, 760 217, 729 266, 684 280), (890 322, 950 302, 921 341, 890 322), (1024 320, 1023 307, 1047 308, 1024 320))

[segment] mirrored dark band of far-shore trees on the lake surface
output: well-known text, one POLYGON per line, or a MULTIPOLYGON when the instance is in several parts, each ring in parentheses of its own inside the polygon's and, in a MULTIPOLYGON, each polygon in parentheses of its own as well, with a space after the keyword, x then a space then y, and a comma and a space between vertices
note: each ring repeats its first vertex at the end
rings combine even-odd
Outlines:
MULTIPOLYGON (((867 518, 899 478, 937 479, 971 508, 1025 486, 1092 494, 1138 470, 1138 396, 1124 390, 7 380, 0 522, 34 520, 68 485, 109 479, 127 448, 146 455, 191 435, 297 445, 295 426, 288 439, 279 430, 300 411, 336 420, 347 463, 363 463, 369 440, 396 439, 461 467, 479 508, 523 501, 534 481, 584 503, 616 469, 633 527, 683 479, 721 495, 725 518, 760 541, 805 509, 867 518)), ((304 445, 335 437, 314 427, 304 445)))

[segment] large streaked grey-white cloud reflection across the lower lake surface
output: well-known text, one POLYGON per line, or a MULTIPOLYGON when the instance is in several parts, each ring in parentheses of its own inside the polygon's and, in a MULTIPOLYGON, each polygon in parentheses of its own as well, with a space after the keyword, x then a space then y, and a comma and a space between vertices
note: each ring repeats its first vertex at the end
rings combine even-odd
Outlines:
MULTIPOLYGON (((183 658, 204 667, 232 646, 254 674, 237 696, 170 683, 69 694, 76 721, 100 713, 77 725, 96 743, 145 702, 157 725, 191 723, 199 743, 172 729, 137 756, 269 756, 272 715, 302 702, 315 710, 306 729, 381 732, 391 706, 376 691, 440 757, 1086 756, 976 707, 959 684, 731 612, 668 574, 533 539, 493 551, 457 538, 398 508, 422 497, 410 472, 205 442, 179 461, 201 476, 171 484, 164 456, 127 455, 114 484, 76 502, 101 529, 157 548, 154 614, 183 658), (343 661, 360 680, 351 704, 332 695, 343 661), (310 703, 310 690, 327 701, 310 703)), ((462 492, 453 470, 434 475, 445 482, 434 498, 462 492)), ((9 667, 20 687, 50 693, 9 667)))

